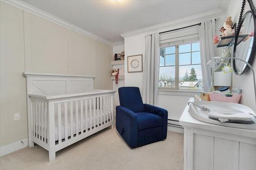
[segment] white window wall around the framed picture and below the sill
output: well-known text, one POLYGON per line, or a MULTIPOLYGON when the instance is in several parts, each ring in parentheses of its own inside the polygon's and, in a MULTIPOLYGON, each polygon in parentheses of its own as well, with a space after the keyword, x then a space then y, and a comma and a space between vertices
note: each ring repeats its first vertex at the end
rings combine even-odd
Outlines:
MULTIPOLYGON (((132 37, 124 38, 124 51, 125 51, 125 86, 137 86, 142 91, 143 86, 143 72, 128 73, 127 72, 127 56, 143 55, 145 58, 145 35, 140 34, 132 37)), ((168 118, 179 120, 180 116, 191 96, 194 92, 159 92, 157 106, 168 110, 168 118)))

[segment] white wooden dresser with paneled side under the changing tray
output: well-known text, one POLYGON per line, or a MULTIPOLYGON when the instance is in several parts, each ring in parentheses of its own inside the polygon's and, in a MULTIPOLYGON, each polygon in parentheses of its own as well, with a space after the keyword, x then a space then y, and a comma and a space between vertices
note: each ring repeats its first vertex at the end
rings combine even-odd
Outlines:
POLYGON ((184 170, 256 169, 256 130, 201 122, 190 116, 188 106, 180 125, 184 127, 184 170))

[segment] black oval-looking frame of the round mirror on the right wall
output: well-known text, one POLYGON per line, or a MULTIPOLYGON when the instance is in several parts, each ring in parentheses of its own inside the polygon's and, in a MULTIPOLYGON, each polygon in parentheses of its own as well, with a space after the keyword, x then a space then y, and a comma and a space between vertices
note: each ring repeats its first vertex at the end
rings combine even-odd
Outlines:
MULTIPOLYGON (((247 62, 248 62, 249 64, 252 64, 252 61, 253 61, 254 55, 255 55, 255 48, 256 48, 256 35, 255 35, 255 34, 256 34, 256 17, 255 17, 255 15, 253 14, 252 11, 247 11, 247 12, 244 14, 244 16, 243 16, 243 18, 242 18, 242 20, 241 20, 241 23, 240 23, 240 25, 239 25, 238 28, 237 28, 237 34, 236 34, 236 37, 234 38, 233 57, 236 58, 236 50, 237 50, 238 36, 239 36, 240 30, 241 30, 241 28, 242 28, 242 26, 243 26, 243 22, 244 22, 245 18, 247 17, 247 15, 248 15, 249 13, 252 15, 253 21, 254 21, 254 35, 253 35, 254 38, 253 38, 253 43, 252 43, 252 48, 251 48, 251 54, 250 54, 250 57, 249 57, 249 59, 248 59, 247 62)), ((244 72, 245 72, 247 69, 248 69, 248 65, 246 64, 245 68, 244 68, 241 72, 238 72, 237 67, 236 67, 236 59, 233 59, 233 71, 234 71, 234 73, 235 73, 236 75, 242 75, 242 74, 244 74, 244 72)))

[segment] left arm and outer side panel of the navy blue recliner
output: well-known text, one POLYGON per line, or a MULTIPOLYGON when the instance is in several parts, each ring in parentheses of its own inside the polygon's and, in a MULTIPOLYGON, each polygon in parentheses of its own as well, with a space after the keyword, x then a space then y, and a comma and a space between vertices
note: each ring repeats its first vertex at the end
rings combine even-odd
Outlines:
POLYGON ((125 107, 117 106, 116 129, 131 148, 137 147, 138 123, 136 113, 125 107))

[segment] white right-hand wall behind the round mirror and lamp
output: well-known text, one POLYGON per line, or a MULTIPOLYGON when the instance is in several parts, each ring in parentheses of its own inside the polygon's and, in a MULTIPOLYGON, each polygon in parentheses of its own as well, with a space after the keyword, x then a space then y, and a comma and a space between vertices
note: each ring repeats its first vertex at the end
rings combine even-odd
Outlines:
MULTIPOLYGON (((253 0, 254 6, 256 6, 256 1, 253 0)), ((227 8, 226 16, 232 16, 233 22, 238 23, 239 14, 241 11, 242 0, 239 1, 230 1, 229 6, 227 8)), ((245 12, 250 10, 248 2, 246 2, 245 12)), ((244 12, 244 13, 245 13, 244 12)), ((222 21, 224 22, 224 21, 222 21)), ((254 56, 255 57, 255 56, 254 56)), ((252 66, 254 70, 256 70, 256 60, 254 59, 252 66)), ((253 77, 250 69, 245 72, 245 74, 241 76, 236 76, 233 74, 232 77, 232 87, 242 89, 242 98, 241 103, 251 107, 253 109, 256 108, 255 100, 254 100, 254 89, 253 89, 253 77)))

